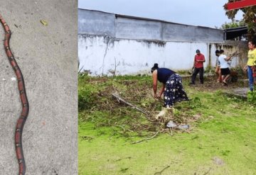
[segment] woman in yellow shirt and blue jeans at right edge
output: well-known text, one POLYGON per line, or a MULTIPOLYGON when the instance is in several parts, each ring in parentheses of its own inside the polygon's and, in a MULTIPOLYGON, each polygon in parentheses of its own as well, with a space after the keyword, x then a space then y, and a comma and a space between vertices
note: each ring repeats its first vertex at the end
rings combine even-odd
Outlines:
POLYGON ((256 79, 256 38, 248 43, 248 47, 248 60, 245 70, 247 69, 250 91, 253 91, 254 79, 256 79))

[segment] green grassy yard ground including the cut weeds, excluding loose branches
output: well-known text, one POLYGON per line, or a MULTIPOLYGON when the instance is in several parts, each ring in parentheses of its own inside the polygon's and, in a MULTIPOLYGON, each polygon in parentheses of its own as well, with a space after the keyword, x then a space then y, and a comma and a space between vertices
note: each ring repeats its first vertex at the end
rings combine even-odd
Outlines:
MULTIPOLYGON (((151 118, 162 101, 152 98, 151 77, 79 77, 79 174, 256 174, 256 109, 223 88, 187 86, 191 101, 176 103, 172 118, 192 130, 161 132, 151 118), (205 90, 203 90, 205 89, 205 90), (118 91, 146 116, 112 98, 118 91)), ((206 79, 210 81, 210 79, 206 79)))

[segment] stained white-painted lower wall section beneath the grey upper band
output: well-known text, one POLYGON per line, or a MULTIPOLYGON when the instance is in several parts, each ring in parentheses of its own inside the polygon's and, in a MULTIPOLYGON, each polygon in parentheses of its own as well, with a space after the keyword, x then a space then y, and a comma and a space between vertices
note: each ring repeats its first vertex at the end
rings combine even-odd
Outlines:
POLYGON ((154 43, 78 35, 80 69, 88 70, 92 75, 111 75, 115 68, 116 74, 148 74, 155 62, 159 67, 174 70, 191 69, 197 49, 205 55, 207 66, 207 43, 154 43))

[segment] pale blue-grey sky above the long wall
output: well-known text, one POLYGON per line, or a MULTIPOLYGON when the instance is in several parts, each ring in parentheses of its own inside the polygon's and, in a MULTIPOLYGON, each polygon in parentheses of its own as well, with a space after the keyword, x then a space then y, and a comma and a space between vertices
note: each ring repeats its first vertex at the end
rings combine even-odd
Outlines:
MULTIPOLYGON (((192 26, 218 27, 230 22, 223 5, 228 0, 78 0, 79 9, 152 18, 192 26)), ((242 19, 238 11, 236 20, 242 19)))

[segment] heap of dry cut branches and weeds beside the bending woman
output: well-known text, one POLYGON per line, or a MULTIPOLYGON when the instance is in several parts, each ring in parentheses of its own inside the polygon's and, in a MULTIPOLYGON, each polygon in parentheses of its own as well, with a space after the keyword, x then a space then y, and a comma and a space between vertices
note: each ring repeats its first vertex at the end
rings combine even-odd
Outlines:
POLYGON ((80 117, 82 121, 95 123, 96 127, 111 127, 114 132, 127 137, 150 138, 159 132, 170 132, 166 127, 170 120, 178 125, 197 120, 182 108, 174 108, 158 117, 163 101, 153 98, 149 79, 98 78, 87 83, 99 90, 92 94, 96 99, 93 107, 80 111, 80 117))

